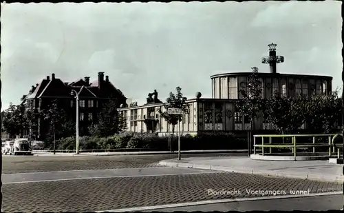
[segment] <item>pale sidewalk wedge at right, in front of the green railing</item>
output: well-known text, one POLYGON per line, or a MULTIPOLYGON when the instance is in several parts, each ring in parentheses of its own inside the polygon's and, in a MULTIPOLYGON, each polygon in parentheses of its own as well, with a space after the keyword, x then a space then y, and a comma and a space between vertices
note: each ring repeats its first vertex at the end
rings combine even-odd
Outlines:
POLYGON ((171 159, 160 161, 160 165, 182 168, 196 168, 264 176, 280 176, 314 181, 344 181, 343 165, 327 161, 257 161, 248 156, 195 157, 178 161, 171 159))

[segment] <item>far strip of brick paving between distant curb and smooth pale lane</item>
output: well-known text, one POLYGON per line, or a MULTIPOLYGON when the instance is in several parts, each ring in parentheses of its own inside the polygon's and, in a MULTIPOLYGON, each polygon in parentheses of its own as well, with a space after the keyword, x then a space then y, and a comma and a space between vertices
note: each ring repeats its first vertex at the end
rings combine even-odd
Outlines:
MULTIPOLYGON (((183 154, 191 156, 246 156, 246 153, 183 154)), ((175 159, 177 154, 127 156, 3 156, 3 174, 70 170, 161 167, 159 161, 175 159)))

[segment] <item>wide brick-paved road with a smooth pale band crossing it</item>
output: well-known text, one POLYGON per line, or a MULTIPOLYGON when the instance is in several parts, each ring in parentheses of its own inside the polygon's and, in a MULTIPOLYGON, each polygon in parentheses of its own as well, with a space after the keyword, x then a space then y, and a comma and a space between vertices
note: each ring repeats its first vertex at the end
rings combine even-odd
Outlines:
MULTIPOLYGON (((234 155, 245 156, 246 154, 234 155)), ((184 155, 184 157, 187 156, 221 157, 233 156, 233 154, 184 155)), ((284 192, 288 195, 294 192, 314 194, 342 190, 342 185, 338 183, 167 168, 158 165, 160 160, 175 157, 175 154, 5 156, 2 174, 3 211, 104 211, 218 199, 256 199, 272 197, 274 195, 269 194, 272 191, 281 194, 284 192), (270 192, 264 194, 259 190, 270 190, 270 192), (222 192, 225 191, 227 193, 223 194, 222 192), (20 205, 16 205, 18 201, 21 201, 20 205)), ((277 201, 250 201, 247 202, 248 204, 221 203, 213 206, 204 205, 202 209, 228 210, 230 207, 233 210, 260 210, 259 206, 266 208, 270 202, 277 201), (261 204, 254 202, 261 202, 261 204)), ((200 210, 192 208, 186 207, 186 210, 200 210)), ((327 209, 330 208, 325 206, 325 210, 327 209)))

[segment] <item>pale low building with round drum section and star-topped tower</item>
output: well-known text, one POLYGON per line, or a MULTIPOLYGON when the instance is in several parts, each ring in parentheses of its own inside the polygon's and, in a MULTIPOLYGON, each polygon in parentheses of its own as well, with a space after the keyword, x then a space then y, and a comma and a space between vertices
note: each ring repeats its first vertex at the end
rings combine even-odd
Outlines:
MULTIPOLYGON (((270 63, 270 73, 258 73, 263 98, 273 95, 295 97, 299 94, 307 97, 332 92, 332 77, 277 73, 276 64, 282 63, 284 57, 276 56, 275 47, 275 44, 270 44, 269 57, 262 59, 262 63, 270 63)), ((189 104, 189 114, 183 116, 180 130, 184 134, 197 134, 207 131, 242 132, 250 129, 249 119, 235 109, 235 101, 243 98, 240 91, 246 88, 250 74, 252 72, 211 76, 212 98, 186 101, 189 104)), ((127 119, 127 129, 131 132, 171 133, 172 125, 159 116, 158 109, 164 112, 164 103, 126 107, 119 111, 127 119)), ((254 130, 272 130, 270 123, 264 123, 263 115, 255 118, 253 123, 254 130)), ((307 125, 304 124, 301 128, 305 129, 307 125)))

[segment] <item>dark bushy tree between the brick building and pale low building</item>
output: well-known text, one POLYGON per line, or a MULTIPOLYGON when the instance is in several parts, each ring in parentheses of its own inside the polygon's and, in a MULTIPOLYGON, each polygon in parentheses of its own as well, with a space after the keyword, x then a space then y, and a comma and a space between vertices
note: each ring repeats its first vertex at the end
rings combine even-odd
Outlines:
POLYGON ((98 124, 92 125, 89 132, 95 136, 111 136, 118 132, 123 132, 127 128, 126 119, 118 113, 114 101, 105 103, 103 109, 98 114, 98 124))

